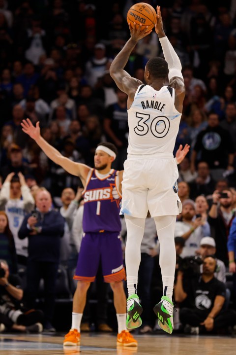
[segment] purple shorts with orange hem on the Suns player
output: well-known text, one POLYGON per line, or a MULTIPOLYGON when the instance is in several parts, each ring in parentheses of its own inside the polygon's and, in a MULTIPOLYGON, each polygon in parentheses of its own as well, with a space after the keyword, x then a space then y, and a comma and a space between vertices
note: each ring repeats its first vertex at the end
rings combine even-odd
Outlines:
POLYGON ((84 234, 74 279, 93 282, 100 260, 106 283, 125 280, 123 253, 118 232, 84 234))

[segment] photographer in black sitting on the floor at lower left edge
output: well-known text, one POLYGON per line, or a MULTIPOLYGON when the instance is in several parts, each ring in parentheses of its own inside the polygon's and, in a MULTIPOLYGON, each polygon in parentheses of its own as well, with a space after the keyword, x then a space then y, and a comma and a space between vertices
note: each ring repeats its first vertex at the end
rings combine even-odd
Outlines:
POLYGON ((30 310, 24 313, 22 306, 23 289, 17 275, 9 274, 5 260, 0 260, 0 323, 3 329, 39 333, 43 313, 30 310))

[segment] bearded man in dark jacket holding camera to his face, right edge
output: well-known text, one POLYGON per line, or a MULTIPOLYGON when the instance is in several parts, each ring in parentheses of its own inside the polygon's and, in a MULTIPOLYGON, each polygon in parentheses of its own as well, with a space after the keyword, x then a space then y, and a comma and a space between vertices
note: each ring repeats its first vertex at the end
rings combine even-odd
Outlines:
POLYGON ((207 220, 215 240, 215 256, 228 267, 227 241, 232 221, 236 215, 236 212, 232 211, 234 203, 232 192, 229 189, 223 190, 221 193, 215 190, 212 201, 207 220))

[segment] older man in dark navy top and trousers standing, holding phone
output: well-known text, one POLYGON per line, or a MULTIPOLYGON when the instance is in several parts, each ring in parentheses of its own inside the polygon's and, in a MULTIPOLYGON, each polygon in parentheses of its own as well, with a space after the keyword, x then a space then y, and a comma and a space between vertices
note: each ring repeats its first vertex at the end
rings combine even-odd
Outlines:
POLYGON ((36 211, 25 216, 19 238, 29 238, 26 300, 29 308, 35 306, 40 279, 44 280, 44 329, 55 331, 51 324, 55 306, 55 288, 60 259, 60 238, 64 233, 64 218, 51 209, 51 194, 39 190, 36 211))

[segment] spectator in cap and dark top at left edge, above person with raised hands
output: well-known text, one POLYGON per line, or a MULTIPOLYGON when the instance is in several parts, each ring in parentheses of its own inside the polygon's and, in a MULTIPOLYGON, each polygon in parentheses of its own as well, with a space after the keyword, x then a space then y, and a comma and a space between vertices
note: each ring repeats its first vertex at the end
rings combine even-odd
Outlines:
POLYGON ((32 172, 26 159, 23 157, 22 149, 19 145, 12 143, 8 148, 8 163, 6 163, 1 169, 2 179, 5 180, 8 174, 14 172, 18 174, 21 172, 23 175, 32 172))

